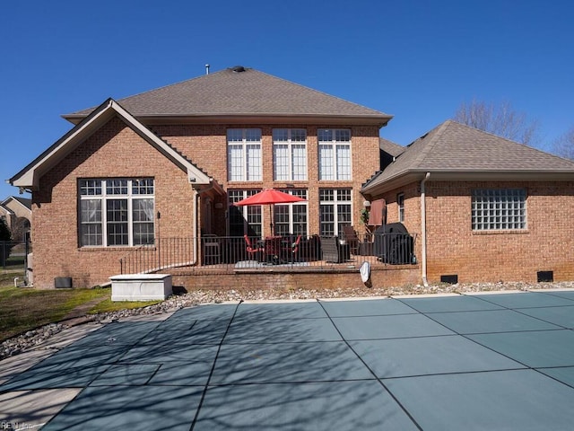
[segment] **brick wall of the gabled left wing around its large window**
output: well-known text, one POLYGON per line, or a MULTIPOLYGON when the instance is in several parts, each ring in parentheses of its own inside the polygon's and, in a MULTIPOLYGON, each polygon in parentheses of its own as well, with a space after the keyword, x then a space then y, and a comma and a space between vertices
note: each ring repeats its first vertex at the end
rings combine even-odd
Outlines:
POLYGON ((119 119, 112 119, 40 180, 33 194, 34 286, 54 287, 72 277, 76 287, 107 283, 119 273, 128 247, 80 248, 77 181, 83 178, 155 178, 156 232, 193 236, 193 190, 181 171, 119 119))

